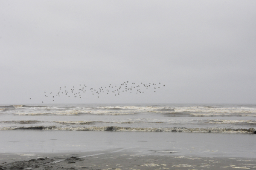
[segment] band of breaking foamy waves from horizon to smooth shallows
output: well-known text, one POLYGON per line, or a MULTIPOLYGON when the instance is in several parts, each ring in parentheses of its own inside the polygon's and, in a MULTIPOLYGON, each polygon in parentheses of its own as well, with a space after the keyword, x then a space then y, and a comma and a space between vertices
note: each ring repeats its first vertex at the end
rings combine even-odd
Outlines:
POLYGON ((256 105, 21 104, 0 116, 0 130, 254 133, 256 105))

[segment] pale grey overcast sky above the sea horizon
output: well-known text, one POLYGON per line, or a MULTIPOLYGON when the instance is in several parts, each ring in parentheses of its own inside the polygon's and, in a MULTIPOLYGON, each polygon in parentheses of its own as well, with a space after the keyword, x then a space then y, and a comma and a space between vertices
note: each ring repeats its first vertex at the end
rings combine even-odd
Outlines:
POLYGON ((0 104, 255 104, 255 9, 255 0, 0 0, 0 104), (124 81, 165 87, 44 94, 124 81))

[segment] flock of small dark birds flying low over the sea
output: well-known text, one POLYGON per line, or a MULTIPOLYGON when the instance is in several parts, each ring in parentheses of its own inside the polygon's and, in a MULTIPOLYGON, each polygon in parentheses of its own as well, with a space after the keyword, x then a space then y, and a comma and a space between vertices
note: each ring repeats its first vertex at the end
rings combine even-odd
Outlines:
MULTIPOLYGON (((106 95, 121 95, 122 93, 144 93, 146 89, 153 89, 154 92, 156 92, 160 87, 164 87, 165 85, 161 85, 161 83, 148 83, 148 84, 135 84, 135 83, 129 83, 129 81, 125 81, 119 86, 114 86, 112 84, 109 84, 105 87, 100 88, 89 88, 85 84, 79 84, 79 87, 73 86, 71 88, 68 88, 66 86, 60 87, 58 92, 44 92, 44 97, 46 98, 52 98, 52 101, 55 100, 55 98, 66 96, 66 97, 73 97, 73 98, 82 98, 84 93, 90 92, 92 95, 96 95, 98 98, 102 94, 106 95)), ((30 98, 31 100, 31 98, 30 98)), ((44 103, 44 101, 42 101, 44 103)))

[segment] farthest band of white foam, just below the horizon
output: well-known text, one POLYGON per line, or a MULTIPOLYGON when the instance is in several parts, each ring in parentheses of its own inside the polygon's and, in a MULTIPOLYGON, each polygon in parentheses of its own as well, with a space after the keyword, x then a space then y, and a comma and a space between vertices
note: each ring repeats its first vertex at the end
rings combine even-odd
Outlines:
MULTIPOLYGON (((9 110, 9 106, 0 108, 1 111, 9 110), (8 108, 7 108, 8 107, 8 108)), ((11 106, 13 108, 13 106, 11 106)), ((17 115, 128 115, 141 112, 154 112, 174 115, 192 115, 192 116, 256 116, 256 109, 249 107, 160 107, 160 106, 107 106, 107 107, 50 107, 50 106, 26 106, 15 105, 15 109, 9 110, 10 113, 17 115)), ((8 112, 9 112, 8 111, 8 112)))

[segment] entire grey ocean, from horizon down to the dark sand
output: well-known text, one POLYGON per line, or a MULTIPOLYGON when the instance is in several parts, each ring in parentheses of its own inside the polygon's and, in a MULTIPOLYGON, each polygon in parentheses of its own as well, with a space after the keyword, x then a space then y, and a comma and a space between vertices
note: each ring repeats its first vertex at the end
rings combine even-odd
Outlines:
POLYGON ((0 106, 0 153, 113 148, 142 154, 256 157, 256 104, 0 106))

